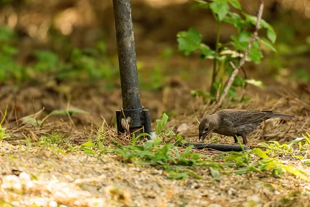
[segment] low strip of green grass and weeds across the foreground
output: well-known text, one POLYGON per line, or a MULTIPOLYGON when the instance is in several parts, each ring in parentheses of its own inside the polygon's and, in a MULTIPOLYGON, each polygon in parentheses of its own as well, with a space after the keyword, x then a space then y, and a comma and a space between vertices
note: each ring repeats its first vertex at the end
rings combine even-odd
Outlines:
MULTIPOLYGON (((82 144, 70 142, 70 137, 61 133, 52 132, 51 135, 41 136, 36 146, 44 146, 55 153, 70 153, 82 151, 89 156, 98 159, 107 153, 120 155, 125 163, 133 163, 141 166, 153 166, 164 170, 171 179, 186 179, 188 176, 203 179, 196 169, 209 170, 215 180, 221 179, 221 174, 248 174, 266 172, 271 176, 281 177, 283 173, 289 173, 308 180, 307 174, 301 169, 287 165, 280 160, 280 155, 295 155, 305 159, 309 153, 310 134, 306 133, 303 138, 297 138, 290 144, 280 145, 277 142, 261 143, 261 148, 254 148, 242 152, 224 152, 211 159, 204 151, 198 151, 193 145, 186 148, 180 147, 184 143, 182 136, 173 132, 173 127, 168 129, 165 125, 168 115, 163 114, 161 119, 155 122, 155 137, 151 140, 143 139, 146 133, 139 136, 126 132, 121 136, 116 135, 114 129, 105 127, 105 121, 101 126, 92 129, 88 141, 82 144), (298 144, 294 149, 293 144, 298 144)), ((26 144, 31 144, 26 139, 26 144)), ((32 143, 32 145, 34 145, 32 143)), ((29 145, 31 146, 31 145, 29 145)))

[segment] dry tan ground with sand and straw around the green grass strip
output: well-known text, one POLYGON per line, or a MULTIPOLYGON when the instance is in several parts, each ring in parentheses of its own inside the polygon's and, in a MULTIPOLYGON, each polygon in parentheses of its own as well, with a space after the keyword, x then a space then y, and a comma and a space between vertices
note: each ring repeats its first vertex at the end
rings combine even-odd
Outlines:
MULTIPOLYGON (((194 67, 193 67, 194 68, 194 67)), ((167 86, 156 92, 141 90, 141 103, 151 110, 152 125, 164 110, 173 112, 167 125, 175 126, 187 139, 197 139, 198 123, 195 116, 211 111, 213 106, 202 104, 201 98, 190 96, 189 88, 203 88, 195 75, 190 80, 167 78, 167 86), (196 85, 196 86, 195 86, 196 85)), ((276 140, 292 141, 310 127, 309 94, 291 87, 272 84, 266 78, 266 89, 249 87, 247 103, 226 103, 223 108, 274 110, 294 114, 292 120, 270 120, 253 132, 249 146, 276 140), (270 83, 270 84, 268 84, 270 83), (277 90, 274 90, 274 88, 277 90)), ((203 82, 203 81, 202 81, 203 82)), ((203 84, 205 85, 205 84, 203 84)), ((66 117, 48 118, 43 127, 16 122, 26 115, 45 107, 46 112, 65 109, 65 94, 44 87, 1 87, 1 111, 9 105, 3 127, 12 134, 0 145, 0 204, 1 206, 310 206, 310 183, 293 175, 282 179, 267 173, 222 175, 220 181, 212 178, 207 168, 199 167, 196 173, 204 179, 187 178, 186 181, 168 179, 167 173, 156 167, 125 164, 119 156, 104 155, 100 159, 70 152, 62 155, 44 147, 27 146, 21 140, 29 136, 38 141, 42 134, 51 131, 70 136, 73 143, 87 141, 92 125, 99 125, 104 117, 113 126, 115 110, 121 105, 119 88, 106 91, 100 86, 69 86, 70 105, 90 112, 66 117), (30 112, 31 111, 31 112, 30 112), (101 117, 102 116, 102 117, 101 117), (112 118, 111 118, 112 117, 112 118), (18 126, 17 126, 18 123, 18 126), (16 175, 19 175, 18 177, 16 175), (16 185, 14 188, 12 186, 16 185), (11 186, 11 187, 10 187, 11 186), (15 189, 8 191, 8 189, 15 189), (17 190, 16 190, 17 189, 17 190), (19 189, 19 190, 18 190, 19 189)), ((45 112, 37 115, 44 117, 45 112)), ((114 121, 115 122, 115 121, 114 121)), ((196 140, 197 141, 197 140, 196 140)), ((210 141, 205 141, 210 142, 210 141)), ((233 138, 220 137, 219 143, 232 143, 233 138)), ((218 152, 210 152, 210 156, 218 152)), ((310 168, 298 159, 281 157, 290 165, 310 168)))

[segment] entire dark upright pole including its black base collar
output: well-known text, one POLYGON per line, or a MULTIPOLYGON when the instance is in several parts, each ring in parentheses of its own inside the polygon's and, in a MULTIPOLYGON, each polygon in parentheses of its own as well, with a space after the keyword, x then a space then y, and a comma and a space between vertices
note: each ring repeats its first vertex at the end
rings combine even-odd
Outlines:
POLYGON ((113 0, 113 9, 123 97, 123 111, 116 111, 118 134, 124 133, 125 129, 127 130, 122 120, 129 121, 130 132, 135 131, 138 134, 140 133, 139 129, 143 128, 144 132, 150 134, 152 132, 150 111, 144 109, 140 103, 131 1, 113 0))

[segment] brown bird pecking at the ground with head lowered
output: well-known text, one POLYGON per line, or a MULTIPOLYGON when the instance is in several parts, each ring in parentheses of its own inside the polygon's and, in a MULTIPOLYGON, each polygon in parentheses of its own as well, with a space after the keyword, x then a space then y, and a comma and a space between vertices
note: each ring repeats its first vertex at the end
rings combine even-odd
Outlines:
POLYGON ((270 118, 295 117, 273 111, 224 109, 202 118, 199 124, 199 140, 202 139, 203 142, 210 132, 215 132, 233 137, 234 143, 238 143, 236 136, 240 136, 243 139, 243 144, 246 145, 248 143, 247 135, 256 130, 263 121, 270 118))

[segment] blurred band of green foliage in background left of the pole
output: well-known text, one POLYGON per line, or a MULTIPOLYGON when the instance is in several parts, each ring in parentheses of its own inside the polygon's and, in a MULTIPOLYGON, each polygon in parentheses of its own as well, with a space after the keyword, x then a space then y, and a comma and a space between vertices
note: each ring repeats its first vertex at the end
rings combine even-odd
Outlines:
POLYGON ((8 80, 19 85, 40 80, 45 74, 62 81, 105 80, 111 88, 114 78, 119 74, 118 65, 113 64, 107 55, 104 42, 98 42, 95 48, 73 48, 70 57, 65 59, 51 50, 35 50, 35 61, 20 65, 16 62, 18 38, 10 28, 0 27, 0 81, 8 80))

